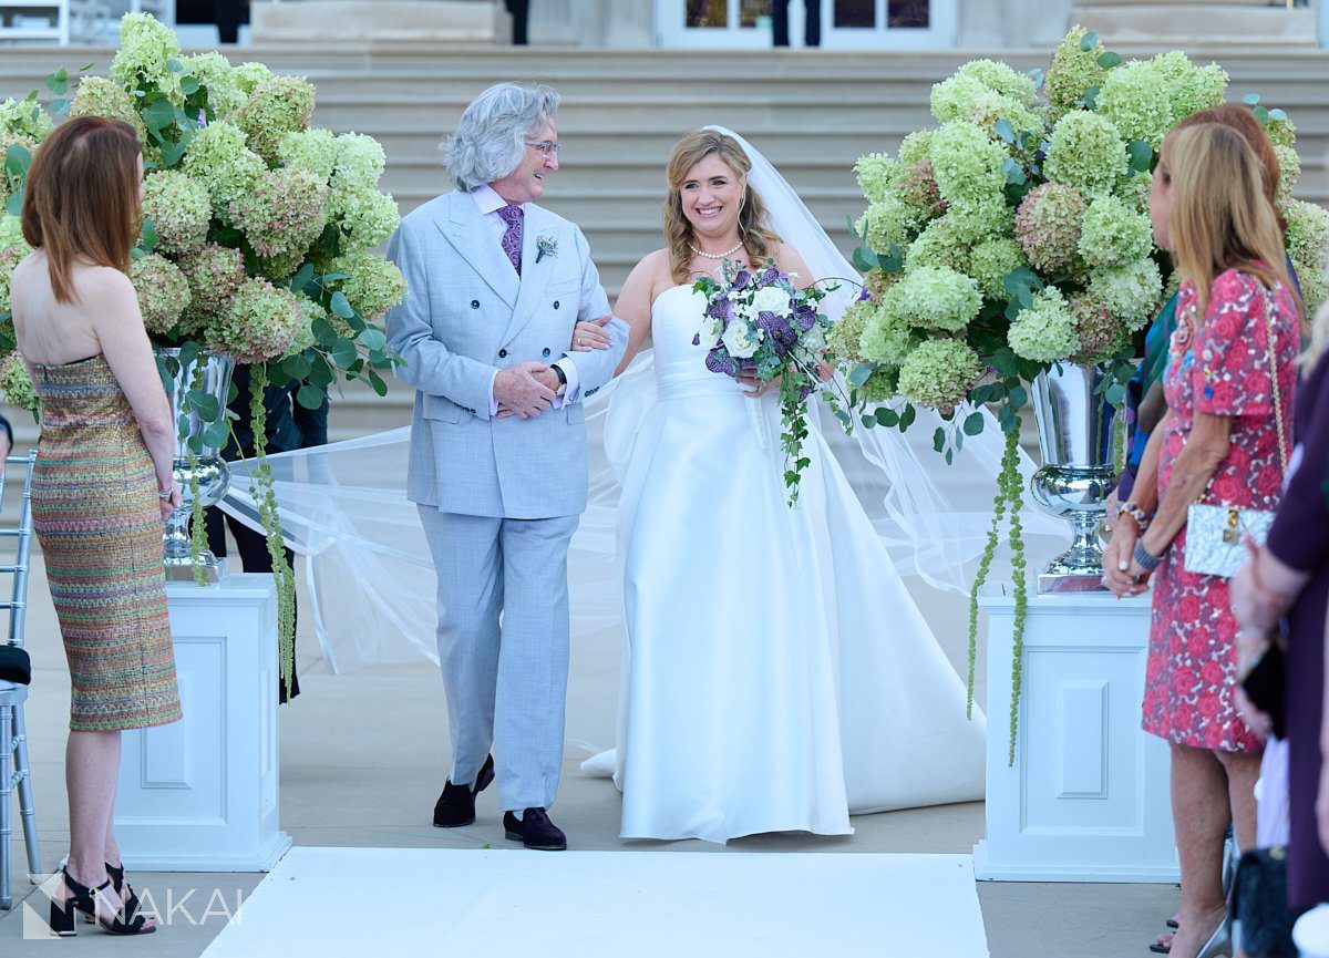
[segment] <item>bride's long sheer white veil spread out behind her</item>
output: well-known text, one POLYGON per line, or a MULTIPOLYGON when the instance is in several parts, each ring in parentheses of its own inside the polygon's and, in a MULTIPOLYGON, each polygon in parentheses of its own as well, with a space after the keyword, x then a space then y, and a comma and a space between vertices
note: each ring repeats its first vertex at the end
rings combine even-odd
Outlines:
MULTIPOLYGON (((776 169, 751 144, 724 128, 752 159, 751 185, 762 194, 771 227, 799 250, 816 279, 839 278, 823 300, 837 319, 857 296, 859 276, 776 169)), ((619 486, 615 465, 626 454, 633 423, 654 403, 649 351, 610 387, 586 401, 590 441, 590 504, 569 553, 573 638, 619 623, 614 567, 619 486), (606 424, 613 425, 606 431, 606 424), (609 448, 606 449, 606 432, 609 448)), ((983 547, 991 516, 1002 440, 995 419, 964 445, 948 466, 933 450, 946 427, 937 413, 897 429, 855 428, 836 421, 824 434, 902 575, 966 591, 966 563, 983 547)), ((407 501, 409 428, 268 456, 286 543, 304 557, 304 585, 324 658, 335 672, 376 663, 437 660, 436 581, 416 506, 407 501)), ((1021 456, 1027 481, 1033 462, 1021 456)), ((221 508, 258 529, 251 493, 253 461, 233 464, 221 508)), ((1063 535, 1053 520, 1025 514, 1026 534, 1063 535)))

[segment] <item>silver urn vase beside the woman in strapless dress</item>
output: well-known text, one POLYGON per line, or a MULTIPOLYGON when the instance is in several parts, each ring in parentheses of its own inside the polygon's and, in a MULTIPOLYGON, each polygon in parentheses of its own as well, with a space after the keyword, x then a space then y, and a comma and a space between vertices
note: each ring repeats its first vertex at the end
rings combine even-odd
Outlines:
MULTIPOLYGON (((179 509, 166 520, 166 578, 173 582, 191 581, 194 575, 193 543, 189 535, 189 517, 194 508, 193 484, 198 480, 198 498, 203 506, 217 505, 231 482, 231 468, 215 446, 203 445, 201 452, 190 448, 190 438, 201 438, 207 429, 194 412, 185 411, 185 396, 190 389, 198 389, 217 400, 221 409, 226 408, 226 396, 231 387, 230 356, 199 353, 189 363, 179 363, 179 349, 158 349, 159 356, 174 359, 178 365, 174 376, 163 376, 166 397, 170 400, 171 421, 175 423, 175 484, 179 486, 179 509), (199 371, 195 373, 195 371, 199 371), (195 383, 195 375, 201 379, 195 383)), ((210 550, 203 550, 199 559, 203 578, 207 582, 221 582, 226 578, 226 559, 217 558, 210 550)))

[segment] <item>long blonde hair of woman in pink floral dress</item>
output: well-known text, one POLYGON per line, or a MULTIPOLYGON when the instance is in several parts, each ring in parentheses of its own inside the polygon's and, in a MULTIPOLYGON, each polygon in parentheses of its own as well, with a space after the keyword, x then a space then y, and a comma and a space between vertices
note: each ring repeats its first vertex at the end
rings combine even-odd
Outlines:
POLYGON ((1172 179, 1172 260, 1195 284, 1197 318, 1203 322, 1209 287, 1224 270, 1249 274, 1267 288, 1282 283, 1300 315, 1263 165, 1245 137, 1220 124, 1175 129, 1163 141, 1159 166, 1172 179))

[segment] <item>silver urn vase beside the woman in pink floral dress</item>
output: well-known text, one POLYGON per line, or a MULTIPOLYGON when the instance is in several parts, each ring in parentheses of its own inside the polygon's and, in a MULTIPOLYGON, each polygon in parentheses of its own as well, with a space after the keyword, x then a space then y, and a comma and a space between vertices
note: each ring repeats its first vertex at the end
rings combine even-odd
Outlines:
POLYGON ((1114 431, 1123 419, 1103 392, 1095 365, 1062 363, 1033 384, 1034 419, 1043 465, 1030 482, 1034 502, 1071 526, 1071 547, 1049 562, 1038 591, 1102 589, 1103 549, 1098 526, 1116 485, 1114 431))

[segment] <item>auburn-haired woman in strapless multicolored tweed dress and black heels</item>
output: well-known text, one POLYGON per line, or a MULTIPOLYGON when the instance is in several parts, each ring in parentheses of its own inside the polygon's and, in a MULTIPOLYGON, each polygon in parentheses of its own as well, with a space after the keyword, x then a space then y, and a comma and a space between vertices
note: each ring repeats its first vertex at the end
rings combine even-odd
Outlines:
POLYGON ((114 934, 155 930, 112 830, 120 733, 181 718, 162 575, 162 520, 179 505, 173 424, 126 275, 142 177, 128 124, 78 117, 47 137, 23 203, 33 251, 11 295, 43 411, 33 527, 73 686, 60 935, 74 934, 76 911, 114 934))

